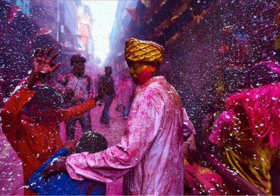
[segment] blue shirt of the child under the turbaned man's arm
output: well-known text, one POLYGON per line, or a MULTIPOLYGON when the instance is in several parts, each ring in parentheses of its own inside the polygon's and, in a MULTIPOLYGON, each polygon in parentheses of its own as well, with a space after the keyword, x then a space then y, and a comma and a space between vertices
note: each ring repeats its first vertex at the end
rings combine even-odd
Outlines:
POLYGON ((48 196, 105 196, 106 183, 92 180, 73 180, 68 173, 57 173, 45 181, 43 171, 58 156, 67 156, 68 150, 64 147, 50 157, 35 172, 33 172, 26 181, 26 185, 38 195, 48 196))

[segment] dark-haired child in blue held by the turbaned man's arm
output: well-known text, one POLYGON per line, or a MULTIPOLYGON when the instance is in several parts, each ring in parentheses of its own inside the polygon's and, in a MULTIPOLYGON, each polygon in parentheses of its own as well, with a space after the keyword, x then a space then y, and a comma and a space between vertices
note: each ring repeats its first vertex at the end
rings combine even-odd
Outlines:
MULTIPOLYGON (((71 147, 71 144, 70 144, 71 147)), ((26 185, 38 195, 47 196, 105 196, 106 183, 94 180, 72 180, 67 172, 56 173, 45 180, 43 171, 58 156, 71 154, 70 147, 60 148, 52 157, 42 164, 28 178, 26 185), (67 149, 68 148, 68 149, 67 149)), ((103 134, 86 132, 80 138, 76 153, 96 153, 107 149, 107 141, 103 134)))

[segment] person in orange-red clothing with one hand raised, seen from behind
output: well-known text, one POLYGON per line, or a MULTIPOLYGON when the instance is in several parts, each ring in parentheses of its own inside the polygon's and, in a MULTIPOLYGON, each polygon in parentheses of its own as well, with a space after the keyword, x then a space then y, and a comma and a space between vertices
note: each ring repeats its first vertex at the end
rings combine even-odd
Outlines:
MULTIPOLYGON (((42 163, 62 147, 56 123, 75 118, 96 106, 102 95, 67 110, 57 109, 62 97, 53 87, 34 84, 59 67, 51 66, 58 53, 48 58, 52 48, 45 54, 46 47, 36 49, 33 70, 21 87, 9 98, 1 110, 2 131, 23 162, 24 182, 42 163), (29 103, 28 103, 29 102, 29 103), (26 116, 26 115, 28 116, 26 116)), ((25 189, 25 195, 34 195, 25 189)))

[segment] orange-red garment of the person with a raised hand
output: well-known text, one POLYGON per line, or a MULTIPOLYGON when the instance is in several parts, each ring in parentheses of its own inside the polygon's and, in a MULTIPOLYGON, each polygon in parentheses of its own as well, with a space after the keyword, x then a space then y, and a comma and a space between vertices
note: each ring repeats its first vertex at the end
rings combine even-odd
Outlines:
MULTIPOLYGON (((2 131, 23 162, 24 182, 41 164, 62 147, 56 124, 75 118, 96 106, 93 99, 67 110, 58 109, 52 119, 42 122, 22 115, 28 100, 35 92, 21 88, 1 110, 2 131)), ((32 194, 27 192, 25 194, 32 194)), ((33 195, 33 194, 32 194, 33 195)))

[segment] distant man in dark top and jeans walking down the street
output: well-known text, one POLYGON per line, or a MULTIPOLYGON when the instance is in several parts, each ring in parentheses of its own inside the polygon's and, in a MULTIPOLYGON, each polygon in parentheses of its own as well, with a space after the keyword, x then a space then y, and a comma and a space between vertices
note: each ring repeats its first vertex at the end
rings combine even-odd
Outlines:
POLYGON ((110 127, 109 109, 112 104, 113 99, 116 97, 114 90, 114 80, 111 76, 112 67, 105 67, 105 74, 101 75, 99 78, 99 91, 103 92, 105 97, 103 99, 104 109, 100 118, 100 123, 105 123, 106 127, 110 127))

